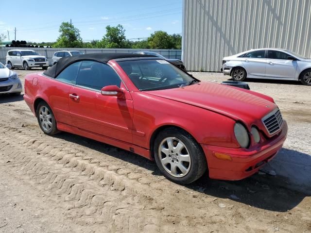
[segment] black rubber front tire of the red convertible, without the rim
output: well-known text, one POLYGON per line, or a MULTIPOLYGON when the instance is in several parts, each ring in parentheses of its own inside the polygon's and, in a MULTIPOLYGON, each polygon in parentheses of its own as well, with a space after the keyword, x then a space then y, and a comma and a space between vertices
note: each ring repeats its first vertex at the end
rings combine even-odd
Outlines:
POLYGON ((193 137, 179 129, 170 128, 166 129, 162 132, 160 132, 156 138, 153 148, 155 163, 161 173, 169 180, 180 183, 180 184, 188 184, 196 181, 199 179, 207 170, 207 162, 205 158, 205 154, 202 151, 201 147, 198 145, 198 143, 193 139, 193 137), (184 177, 174 177, 171 174, 169 174, 162 166, 159 156, 158 156, 158 147, 161 143, 161 141, 166 137, 175 137, 178 138, 180 141, 182 141, 185 146, 187 147, 189 153, 190 153, 190 171, 189 173, 184 177))

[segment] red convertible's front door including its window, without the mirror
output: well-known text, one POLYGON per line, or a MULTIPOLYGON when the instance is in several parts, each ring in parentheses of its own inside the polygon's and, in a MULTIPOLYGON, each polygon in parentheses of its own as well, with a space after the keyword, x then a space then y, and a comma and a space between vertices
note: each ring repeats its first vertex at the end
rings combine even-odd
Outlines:
POLYGON ((76 86, 69 91, 69 109, 73 126, 125 142, 132 142, 133 102, 129 92, 120 99, 103 96, 107 85, 121 85, 121 79, 108 65, 83 61, 76 86))

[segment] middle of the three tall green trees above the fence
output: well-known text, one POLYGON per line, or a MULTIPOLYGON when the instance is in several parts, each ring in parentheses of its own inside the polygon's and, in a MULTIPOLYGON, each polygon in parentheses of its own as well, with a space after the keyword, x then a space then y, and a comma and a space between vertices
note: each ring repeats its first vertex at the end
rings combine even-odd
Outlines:
POLYGON ((99 41, 98 46, 101 48, 125 48, 128 45, 128 40, 125 39, 125 29, 121 24, 116 27, 108 25, 106 34, 99 41))

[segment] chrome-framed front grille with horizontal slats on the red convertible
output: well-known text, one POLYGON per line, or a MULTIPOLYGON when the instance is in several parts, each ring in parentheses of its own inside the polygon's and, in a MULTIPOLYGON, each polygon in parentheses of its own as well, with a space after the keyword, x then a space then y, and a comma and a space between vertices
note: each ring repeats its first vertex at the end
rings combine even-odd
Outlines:
POLYGON ((264 116, 262 118, 262 123, 270 135, 280 131, 283 125, 283 118, 280 110, 276 108, 267 116, 264 116))

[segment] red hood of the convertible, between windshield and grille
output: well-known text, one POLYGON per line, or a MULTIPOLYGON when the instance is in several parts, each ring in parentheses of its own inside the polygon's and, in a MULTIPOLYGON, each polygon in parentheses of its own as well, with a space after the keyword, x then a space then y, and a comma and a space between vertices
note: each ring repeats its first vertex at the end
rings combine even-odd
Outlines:
POLYGON ((272 98, 260 93, 209 82, 146 93, 204 108, 248 124, 261 121, 277 107, 272 98))

